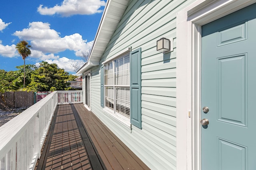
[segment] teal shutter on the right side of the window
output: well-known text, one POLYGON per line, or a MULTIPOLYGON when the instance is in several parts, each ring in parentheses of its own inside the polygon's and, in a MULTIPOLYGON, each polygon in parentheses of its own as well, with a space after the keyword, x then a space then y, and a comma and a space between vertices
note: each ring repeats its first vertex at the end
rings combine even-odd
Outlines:
POLYGON ((142 129, 141 121, 141 48, 130 52, 130 121, 142 129))

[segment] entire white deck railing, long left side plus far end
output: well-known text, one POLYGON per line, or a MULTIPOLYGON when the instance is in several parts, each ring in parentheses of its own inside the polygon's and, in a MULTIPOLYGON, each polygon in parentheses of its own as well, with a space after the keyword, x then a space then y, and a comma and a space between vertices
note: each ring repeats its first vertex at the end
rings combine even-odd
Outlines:
POLYGON ((57 104, 81 100, 82 91, 55 91, 0 127, 0 170, 34 170, 57 104))

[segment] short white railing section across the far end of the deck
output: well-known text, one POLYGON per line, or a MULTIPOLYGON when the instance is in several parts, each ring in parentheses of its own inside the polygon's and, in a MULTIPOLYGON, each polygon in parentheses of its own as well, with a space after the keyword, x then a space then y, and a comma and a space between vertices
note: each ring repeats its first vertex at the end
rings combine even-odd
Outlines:
POLYGON ((58 91, 58 104, 82 103, 83 91, 58 91))

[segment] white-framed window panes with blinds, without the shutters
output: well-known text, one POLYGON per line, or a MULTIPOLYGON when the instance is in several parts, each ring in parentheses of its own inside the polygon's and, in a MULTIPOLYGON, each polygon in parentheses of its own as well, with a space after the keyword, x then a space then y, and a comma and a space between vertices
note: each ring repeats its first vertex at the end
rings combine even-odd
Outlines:
POLYGON ((130 118, 130 55, 104 66, 105 108, 130 118))

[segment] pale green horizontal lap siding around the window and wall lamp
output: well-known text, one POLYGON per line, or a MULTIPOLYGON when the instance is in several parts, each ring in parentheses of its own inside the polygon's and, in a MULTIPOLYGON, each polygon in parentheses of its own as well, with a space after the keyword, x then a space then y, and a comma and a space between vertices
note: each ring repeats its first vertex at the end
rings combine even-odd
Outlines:
POLYGON ((193 0, 131 0, 100 63, 142 48, 142 129, 132 131, 100 106, 100 66, 92 68, 92 111, 151 169, 176 169, 176 13, 193 0), (161 37, 174 51, 156 51, 161 37))

